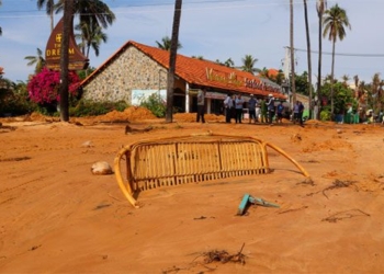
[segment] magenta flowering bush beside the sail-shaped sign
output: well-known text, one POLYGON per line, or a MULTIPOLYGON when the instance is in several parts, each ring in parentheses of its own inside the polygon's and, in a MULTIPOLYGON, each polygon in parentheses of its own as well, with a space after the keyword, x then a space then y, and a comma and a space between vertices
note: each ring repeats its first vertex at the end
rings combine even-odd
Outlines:
MULTIPOLYGON (((77 89, 80 83, 80 78, 75 71, 68 72, 69 94, 76 95, 77 89)), ((43 68, 43 70, 35 75, 27 84, 27 91, 31 101, 44 104, 44 103, 57 103, 60 101, 60 71, 49 70, 43 68)))

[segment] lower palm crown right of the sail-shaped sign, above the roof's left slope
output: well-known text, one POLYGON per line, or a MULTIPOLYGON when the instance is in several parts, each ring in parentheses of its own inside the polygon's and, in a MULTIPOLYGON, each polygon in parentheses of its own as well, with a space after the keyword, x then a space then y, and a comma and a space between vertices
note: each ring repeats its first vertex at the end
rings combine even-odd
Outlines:
POLYGON ((89 50, 92 47, 95 56, 99 56, 101 42, 106 43, 108 41, 108 35, 103 33, 102 27, 91 22, 91 24, 80 23, 75 30, 81 31, 80 34, 75 35, 75 38, 81 39, 78 46, 82 54, 89 58, 89 50))

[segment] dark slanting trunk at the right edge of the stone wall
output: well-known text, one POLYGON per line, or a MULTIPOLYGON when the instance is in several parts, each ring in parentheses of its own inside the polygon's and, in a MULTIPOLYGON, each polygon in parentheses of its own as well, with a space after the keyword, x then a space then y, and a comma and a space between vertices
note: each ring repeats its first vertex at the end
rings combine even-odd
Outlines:
POLYGON ((166 113, 167 123, 172 123, 172 115, 173 115, 174 71, 176 71, 176 58, 178 55, 181 5, 182 5, 182 0, 176 0, 171 48, 169 53, 169 70, 168 70, 168 79, 167 79, 168 80, 167 81, 168 82, 167 83, 167 113, 166 113))

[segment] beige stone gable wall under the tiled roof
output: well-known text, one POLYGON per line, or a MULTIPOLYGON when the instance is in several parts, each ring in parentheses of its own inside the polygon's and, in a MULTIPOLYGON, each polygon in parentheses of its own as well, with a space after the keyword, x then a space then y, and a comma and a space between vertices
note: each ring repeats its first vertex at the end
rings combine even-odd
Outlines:
POLYGON ((117 53, 83 87, 83 98, 97 102, 117 102, 124 100, 131 104, 132 90, 160 90, 167 87, 167 70, 129 46, 117 53))

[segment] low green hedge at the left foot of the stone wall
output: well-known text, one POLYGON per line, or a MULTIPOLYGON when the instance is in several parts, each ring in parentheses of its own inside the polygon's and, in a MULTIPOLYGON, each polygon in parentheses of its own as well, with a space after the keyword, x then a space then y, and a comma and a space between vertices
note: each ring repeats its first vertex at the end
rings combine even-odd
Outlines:
POLYGON ((80 100, 75 106, 69 107, 69 115, 74 117, 98 116, 112 111, 123 112, 128 104, 124 101, 118 102, 92 102, 80 100))

